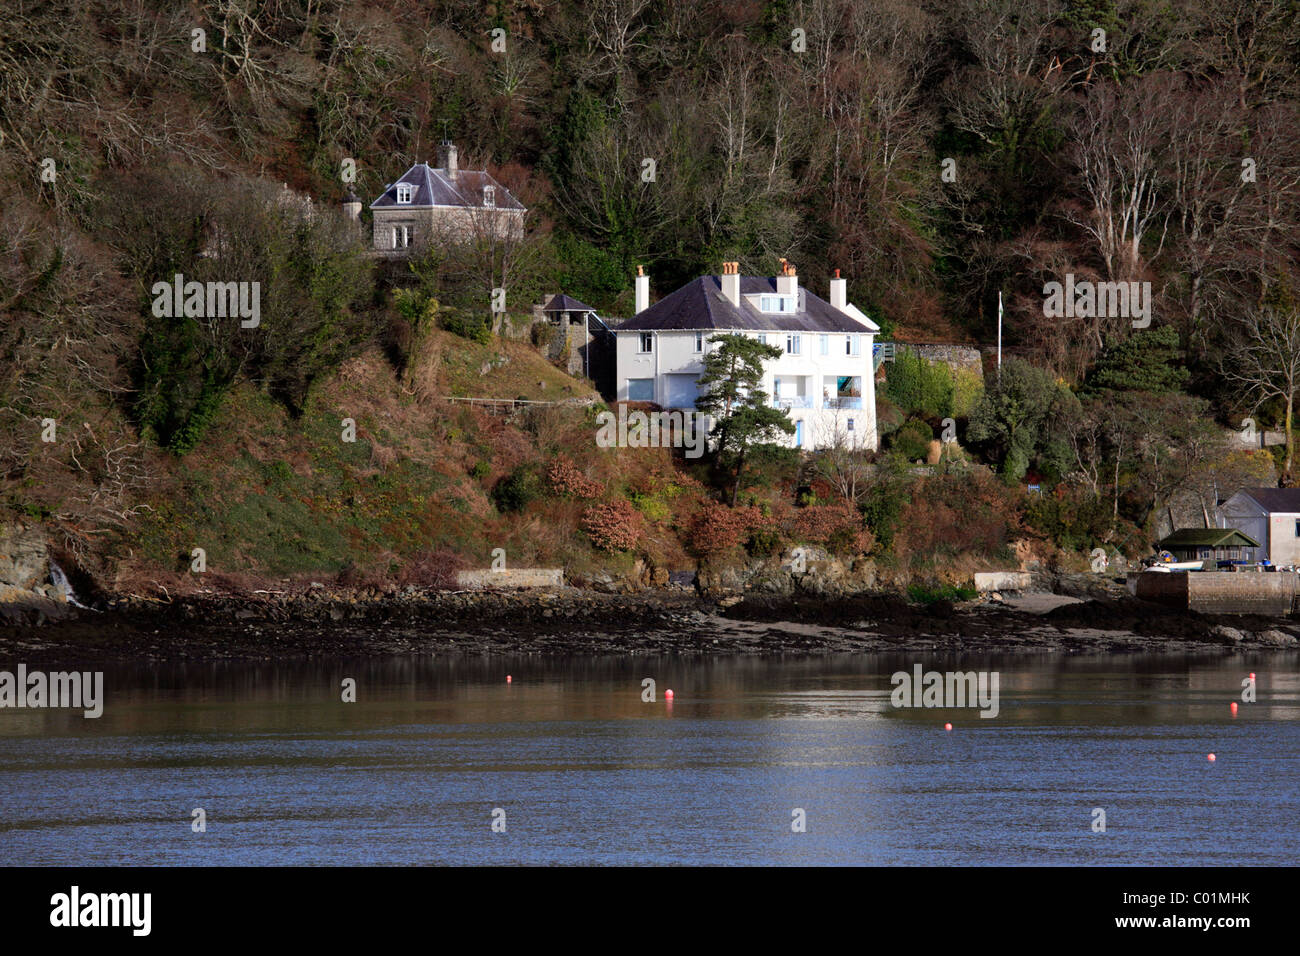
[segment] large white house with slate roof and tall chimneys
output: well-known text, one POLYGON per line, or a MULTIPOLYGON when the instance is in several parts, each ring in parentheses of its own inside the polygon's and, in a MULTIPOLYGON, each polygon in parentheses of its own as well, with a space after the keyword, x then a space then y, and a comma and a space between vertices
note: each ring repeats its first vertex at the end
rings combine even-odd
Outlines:
POLYGON ((783 259, 772 278, 723 263, 723 274, 701 276, 654 306, 650 278, 637 273, 636 315, 615 329, 618 401, 694 410, 708 338, 742 333, 781 350, 766 364, 763 390, 794 423, 792 446, 824 447, 836 436, 879 446, 871 352, 880 328, 846 300, 838 269, 829 302, 801 287, 783 259))

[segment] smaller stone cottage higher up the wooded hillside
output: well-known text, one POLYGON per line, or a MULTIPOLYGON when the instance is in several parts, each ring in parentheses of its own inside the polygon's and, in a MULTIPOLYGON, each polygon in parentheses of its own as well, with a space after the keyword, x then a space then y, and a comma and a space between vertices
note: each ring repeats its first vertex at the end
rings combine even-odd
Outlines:
POLYGON ((376 251, 407 255, 426 243, 524 235, 528 209, 488 170, 460 169, 451 143, 439 147, 438 161, 416 163, 370 203, 376 251))

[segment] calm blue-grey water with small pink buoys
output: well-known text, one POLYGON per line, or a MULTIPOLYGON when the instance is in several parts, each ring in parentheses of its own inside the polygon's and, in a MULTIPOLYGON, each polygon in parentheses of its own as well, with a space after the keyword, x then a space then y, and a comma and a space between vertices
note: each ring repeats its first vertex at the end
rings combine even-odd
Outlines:
POLYGON ((0 710, 4 864, 1300 861, 1295 654, 420 657, 105 688, 98 721, 0 710), (997 670, 1001 713, 892 708, 914 663, 997 670))

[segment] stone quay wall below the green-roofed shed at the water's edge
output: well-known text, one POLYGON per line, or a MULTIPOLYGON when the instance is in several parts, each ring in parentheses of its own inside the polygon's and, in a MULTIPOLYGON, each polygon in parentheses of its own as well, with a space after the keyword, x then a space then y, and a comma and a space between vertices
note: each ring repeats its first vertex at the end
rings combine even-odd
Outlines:
POLYGON ((1300 575, 1291 571, 1144 571, 1131 576, 1144 601, 1205 614, 1295 613, 1300 575))

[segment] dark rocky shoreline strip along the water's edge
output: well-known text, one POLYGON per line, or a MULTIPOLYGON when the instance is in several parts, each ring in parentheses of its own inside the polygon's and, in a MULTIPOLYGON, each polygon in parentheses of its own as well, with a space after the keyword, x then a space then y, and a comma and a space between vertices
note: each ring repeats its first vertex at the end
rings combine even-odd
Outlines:
POLYGON ((1045 606, 1018 596, 918 605, 890 593, 705 600, 686 589, 606 594, 576 588, 126 597, 100 611, 69 609, 40 626, 0 626, 0 661, 1300 649, 1300 624, 1292 620, 1217 618, 1127 597, 1058 596, 1045 606))

